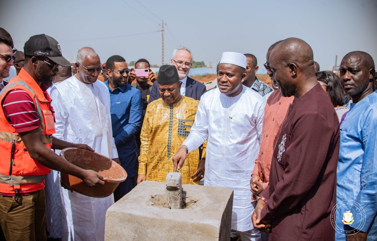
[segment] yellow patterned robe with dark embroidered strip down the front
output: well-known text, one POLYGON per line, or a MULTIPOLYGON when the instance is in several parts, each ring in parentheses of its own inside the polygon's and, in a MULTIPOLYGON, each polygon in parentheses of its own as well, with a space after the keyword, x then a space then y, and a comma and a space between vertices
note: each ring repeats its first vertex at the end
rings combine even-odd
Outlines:
MULTIPOLYGON (((175 104, 166 104, 160 98, 148 105, 140 134, 138 174, 147 175, 149 181, 166 182, 166 175, 174 168, 172 157, 189 136, 198 104, 199 101, 182 96, 175 104)), ((182 184, 199 185, 200 181, 193 182, 190 177, 196 172, 198 165, 199 150, 187 154, 187 159, 179 170, 182 184)))

